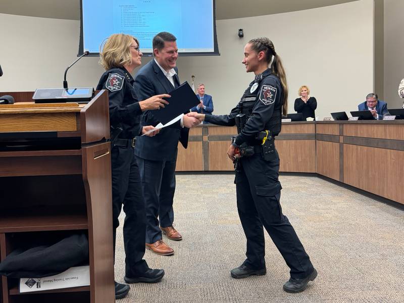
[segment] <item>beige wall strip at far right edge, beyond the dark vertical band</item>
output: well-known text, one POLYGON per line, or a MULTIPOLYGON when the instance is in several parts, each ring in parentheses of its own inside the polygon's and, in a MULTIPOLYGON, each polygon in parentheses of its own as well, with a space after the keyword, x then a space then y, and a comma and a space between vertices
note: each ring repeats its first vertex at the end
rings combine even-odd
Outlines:
POLYGON ((397 89, 404 78, 404 1, 384 0, 384 100, 401 108, 397 89))

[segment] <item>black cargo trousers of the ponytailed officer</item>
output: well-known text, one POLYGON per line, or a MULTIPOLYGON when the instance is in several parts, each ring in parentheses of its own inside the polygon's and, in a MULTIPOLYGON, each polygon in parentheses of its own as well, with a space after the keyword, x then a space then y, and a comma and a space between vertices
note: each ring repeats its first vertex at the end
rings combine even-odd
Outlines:
MULTIPOLYGON (((277 153, 277 152, 276 152, 277 153)), ((313 265, 279 203, 279 156, 265 161, 261 154, 243 157, 236 170, 237 208, 247 238, 247 259, 252 269, 265 268, 264 230, 280 251, 292 278, 305 278, 313 265)))

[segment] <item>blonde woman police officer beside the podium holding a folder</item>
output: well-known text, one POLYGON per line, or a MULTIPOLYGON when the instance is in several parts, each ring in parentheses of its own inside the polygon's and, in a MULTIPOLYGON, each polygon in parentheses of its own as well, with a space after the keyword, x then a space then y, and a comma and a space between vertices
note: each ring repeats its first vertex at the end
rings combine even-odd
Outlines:
MULTIPOLYGON (((100 52, 99 63, 106 72, 99 79, 97 89, 106 89, 109 96, 111 123, 112 205, 114 254, 118 217, 125 212, 123 238, 125 245, 125 281, 127 283, 155 283, 164 276, 164 270, 150 269, 142 260, 145 250, 145 208, 140 184, 139 168, 133 154, 135 137, 153 129, 140 125, 143 111, 164 107, 168 102, 161 94, 144 101, 137 99, 130 73, 140 66, 142 53, 138 40, 126 34, 113 34, 100 52)), ((154 136, 158 131, 150 132, 154 136)), ((123 298, 129 286, 115 282, 115 297, 123 298)))

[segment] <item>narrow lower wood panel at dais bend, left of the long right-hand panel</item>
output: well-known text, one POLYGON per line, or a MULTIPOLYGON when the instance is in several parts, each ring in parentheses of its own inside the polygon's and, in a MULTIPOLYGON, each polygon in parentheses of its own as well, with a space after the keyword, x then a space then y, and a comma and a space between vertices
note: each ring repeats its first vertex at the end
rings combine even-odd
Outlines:
POLYGON ((317 173, 339 181, 339 143, 317 141, 317 173))

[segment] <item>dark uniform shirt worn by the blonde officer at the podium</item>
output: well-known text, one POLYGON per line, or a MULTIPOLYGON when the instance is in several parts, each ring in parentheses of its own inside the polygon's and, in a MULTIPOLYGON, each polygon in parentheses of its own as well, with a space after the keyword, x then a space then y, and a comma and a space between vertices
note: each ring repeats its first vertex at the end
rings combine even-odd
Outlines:
POLYGON ((133 87, 135 80, 124 67, 112 68, 99 79, 96 89, 106 89, 109 97, 110 124, 122 127, 121 139, 141 134, 142 111, 133 87))

